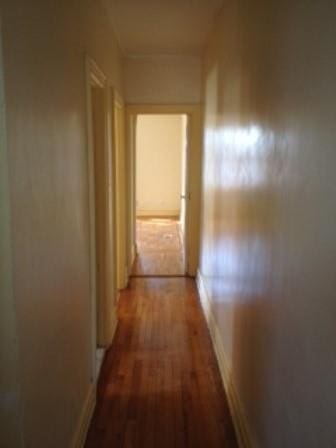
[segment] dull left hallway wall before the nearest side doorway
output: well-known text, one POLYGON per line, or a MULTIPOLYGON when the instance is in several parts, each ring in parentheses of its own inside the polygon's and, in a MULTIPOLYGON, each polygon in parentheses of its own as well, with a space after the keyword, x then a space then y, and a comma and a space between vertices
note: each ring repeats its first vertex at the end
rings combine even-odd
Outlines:
POLYGON ((1 8, 23 436, 67 447, 91 379, 84 55, 121 89, 119 51, 100 2, 1 8))

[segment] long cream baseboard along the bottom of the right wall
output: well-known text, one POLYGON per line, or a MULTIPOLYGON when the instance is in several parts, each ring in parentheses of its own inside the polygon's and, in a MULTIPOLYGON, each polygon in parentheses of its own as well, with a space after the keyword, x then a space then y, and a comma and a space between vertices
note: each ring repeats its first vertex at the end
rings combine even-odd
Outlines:
POLYGON ((238 398, 236 388, 232 380, 231 369, 227 356, 225 354, 223 342, 219 329, 211 310, 210 296, 207 291, 206 283, 202 274, 197 272, 197 287, 201 299, 202 308, 210 331, 212 343, 216 353, 220 374, 222 377, 224 389, 227 395, 233 424, 236 430, 238 444, 240 448, 256 448, 250 430, 248 429, 247 419, 243 411, 243 405, 238 398))

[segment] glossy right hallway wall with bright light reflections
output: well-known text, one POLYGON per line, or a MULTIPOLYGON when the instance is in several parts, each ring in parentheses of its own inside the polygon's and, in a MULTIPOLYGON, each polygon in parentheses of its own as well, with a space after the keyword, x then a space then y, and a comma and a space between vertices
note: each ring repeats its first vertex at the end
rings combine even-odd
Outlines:
POLYGON ((336 440, 335 17, 226 2, 206 54, 201 274, 263 448, 336 440))

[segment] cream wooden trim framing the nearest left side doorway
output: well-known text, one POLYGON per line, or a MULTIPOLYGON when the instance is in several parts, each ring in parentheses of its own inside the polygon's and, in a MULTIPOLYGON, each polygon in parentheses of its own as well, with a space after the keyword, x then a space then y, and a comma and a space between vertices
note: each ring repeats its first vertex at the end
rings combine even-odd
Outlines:
MULTIPOLYGON (((110 84, 108 78, 98 67, 96 62, 88 55, 85 55, 86 70, 86 102, 87 102, 87 157, 88 157, 88 181, 89 181, 89 231, 90 231, 90 295, 91 295, 91 344, 92 344, 92 373, 91 381, 96 381, 96 349, 97 345, 108 347, 113 339, 116 322, 116 313, 112 311, 115 305, 115 285, 114 278, 110 275, 111 266, 115 265, 114 234, 111 228, 110 217, 113 215, 114 194, 113 173, 112 173, 112 137, 111 137, 111 98, 110 84), (102 119, 98 122, 101 126, 101 149, 99 160, 102 165, 101 173, 103 177, 95 175, 95 165, 97 163, 94 148, 94 125, 92 122, 93 94, 92 88, 97 88, 100 100, 100 111, 102 119), (99 196, 96 194, 97 180, 104 182, 99 196), (97 221, 96 201, 99 201, 98 209, 103 210, 101 220, 97 221), (100 222, 99 228, 97 222, 100 222), (105 240, 105 250, 98 252, 102 271, 98 272, 97 279, 97 233, 105 240), (112 249, 111 249, 112 248, 112 249), (97 281, 98 280, 98 281, 97 281), (98 297, 98 290, 101 294, 98 297), (98 323, 97 323, 98 317, 98 323)), ((112 219, 114 224, 114 218, 112 219)))

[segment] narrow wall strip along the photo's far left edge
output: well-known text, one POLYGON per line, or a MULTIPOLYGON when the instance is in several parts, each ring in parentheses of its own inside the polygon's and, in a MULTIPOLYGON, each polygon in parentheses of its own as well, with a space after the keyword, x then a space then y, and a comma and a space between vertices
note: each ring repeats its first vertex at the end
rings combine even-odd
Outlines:
POLYGON ((0 445, 9 448, 22 446, 22 434, 1 31, 0 27, 0 445))

